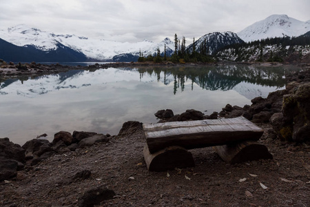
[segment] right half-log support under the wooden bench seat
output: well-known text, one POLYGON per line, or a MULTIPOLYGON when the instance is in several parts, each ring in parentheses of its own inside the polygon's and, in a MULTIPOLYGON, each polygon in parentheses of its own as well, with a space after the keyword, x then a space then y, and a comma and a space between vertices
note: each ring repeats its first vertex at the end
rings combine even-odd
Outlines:
POLYGON ((214 146, 213 148, 224 161, 229 163, 273 158, 268 148, 257 141, 241 141, 237 144, 214 146))

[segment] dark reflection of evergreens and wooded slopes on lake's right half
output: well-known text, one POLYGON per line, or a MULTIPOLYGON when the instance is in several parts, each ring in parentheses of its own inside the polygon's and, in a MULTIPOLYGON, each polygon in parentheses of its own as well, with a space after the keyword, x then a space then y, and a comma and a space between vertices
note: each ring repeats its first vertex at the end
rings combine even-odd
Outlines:
POLYGON ((260 67, 260 66, 208 66, 208 67, 182 67, 182 68, 152 68, 138 69, 140 77, 143 74, 152 76, 156 74, 157 81, 163 81, 168 85, 174 81, 174 95, 178 88, 183 92, 187 80, 192 80, 191 90, 194 83, 206 90, 231 90, 238 83, 253 83, 260 86, 281 88, 285 86, 285 68, 283 67, 260 67), (169 81, 169 77, 172 80, 169 81))

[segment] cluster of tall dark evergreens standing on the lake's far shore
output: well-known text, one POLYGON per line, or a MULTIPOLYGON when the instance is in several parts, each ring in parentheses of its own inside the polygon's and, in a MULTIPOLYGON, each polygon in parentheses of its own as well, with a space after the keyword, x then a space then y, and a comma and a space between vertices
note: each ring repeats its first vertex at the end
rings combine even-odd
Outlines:
POLYGON ((174 34, 174 53, 171 57, 167 56, 166 45, 164 48, 163 56, 161 55, 161 50, 157 48, 157 52, 154 55, 143 56, 141 51, 139 52, 138 62, 143 61, 154 61, 156 63, 161 63, 163 61, 172 61, 174 63, 190 63, 190 62, 214 62, 214 58, 208 55, 209 48, 207 48, 207 43, 204 41, 200 44, 198 50, 196 50, 195 37, 193 39, 192 50, 188 50, 185 46, 185 37, 178 39, 178 36, 174 34))

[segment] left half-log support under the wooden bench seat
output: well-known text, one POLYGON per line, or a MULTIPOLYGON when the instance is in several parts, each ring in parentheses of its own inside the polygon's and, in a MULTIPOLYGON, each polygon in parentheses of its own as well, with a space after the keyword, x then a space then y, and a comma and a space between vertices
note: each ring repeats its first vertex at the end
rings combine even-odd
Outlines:
POLYGON ((192 153, 180 146, 169 146, 151 154, 147 144, 145 144, 143 155, 149 171, 165 171, 195 166, 192 153))

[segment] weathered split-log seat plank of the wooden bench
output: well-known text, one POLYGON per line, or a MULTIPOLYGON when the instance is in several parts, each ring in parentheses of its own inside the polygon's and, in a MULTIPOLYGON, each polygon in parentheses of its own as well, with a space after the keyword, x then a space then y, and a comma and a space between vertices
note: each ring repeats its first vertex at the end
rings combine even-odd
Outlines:
POLYGON ((143 124, 143 130, 151 153, 168 146, 192 149, 258 140, 263 133, 245 117, 143 124))

